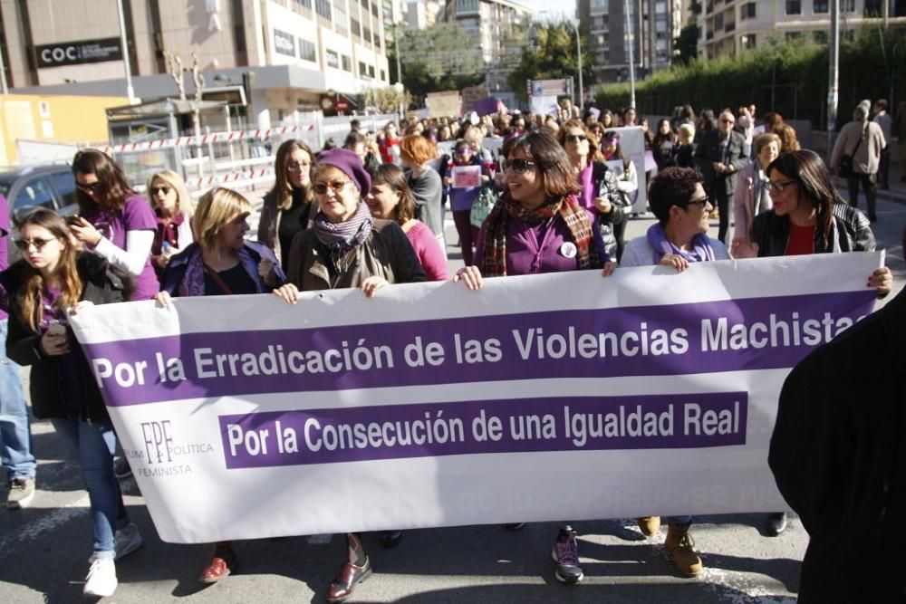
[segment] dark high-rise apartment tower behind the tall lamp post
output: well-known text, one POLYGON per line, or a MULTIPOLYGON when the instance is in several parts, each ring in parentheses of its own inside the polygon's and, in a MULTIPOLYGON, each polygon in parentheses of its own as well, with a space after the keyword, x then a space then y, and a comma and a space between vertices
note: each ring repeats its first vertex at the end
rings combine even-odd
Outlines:
POLYGON ((590 41, 596 81, 629 77, 629 44, 637 77, 670 67, 673 41, 683 24, 681 0, 579 0, 576 11, 590 41), (629 11, 630 29, 626 26, 629 11))

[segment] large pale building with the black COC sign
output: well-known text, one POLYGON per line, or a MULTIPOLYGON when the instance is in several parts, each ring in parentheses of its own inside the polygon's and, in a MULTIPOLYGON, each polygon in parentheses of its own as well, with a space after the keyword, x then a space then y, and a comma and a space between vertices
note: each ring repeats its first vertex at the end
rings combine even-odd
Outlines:
MULTIPOLYGON (((389 85, 381 0, 122 0, 135 96, 242 89, 259 126, 326 107, 325 98, 389 85), (178 62, 177 62, 178 58, 178 62)), ((117 0, 0 0, 11 91, 126 91, 117 0)), ((230 97, 236 100, 233 97, 230 97)))

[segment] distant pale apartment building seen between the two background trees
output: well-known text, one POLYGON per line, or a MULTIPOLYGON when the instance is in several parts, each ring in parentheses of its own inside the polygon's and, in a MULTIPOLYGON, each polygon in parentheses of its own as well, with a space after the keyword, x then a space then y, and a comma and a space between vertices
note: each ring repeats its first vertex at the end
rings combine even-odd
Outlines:
POLYGON ((532 11, 508 0, 447 0, 438 13, 438 23, 456 24, 481 50, 487 66, 485 86, 505 91, 506 78, 519 56, 512 53, 512 34, 525 28, 532 11))

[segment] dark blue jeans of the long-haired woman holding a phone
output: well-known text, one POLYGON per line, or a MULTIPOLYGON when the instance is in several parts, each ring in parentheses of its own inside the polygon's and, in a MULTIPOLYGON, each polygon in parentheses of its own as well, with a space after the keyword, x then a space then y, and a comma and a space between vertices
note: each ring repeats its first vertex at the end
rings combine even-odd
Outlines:
POLYGON ((53 419, 53 429, 78 449, 82 479, 92 502, 94 556, 113 558, 114 535, 129 519, 122 503, 120 483, 113 475, 116 436, 110 422, 89 424, 75 419, 53 419))

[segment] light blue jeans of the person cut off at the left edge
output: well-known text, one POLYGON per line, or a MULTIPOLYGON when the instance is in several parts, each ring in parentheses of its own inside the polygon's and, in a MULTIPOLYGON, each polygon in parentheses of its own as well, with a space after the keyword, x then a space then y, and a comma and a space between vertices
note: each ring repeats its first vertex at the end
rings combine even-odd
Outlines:
POLYGON ((9 320, 0 320, 0 464, 7 480, 34 478, 32 430, 20 368, 6 358, 8 328, 9 320))

